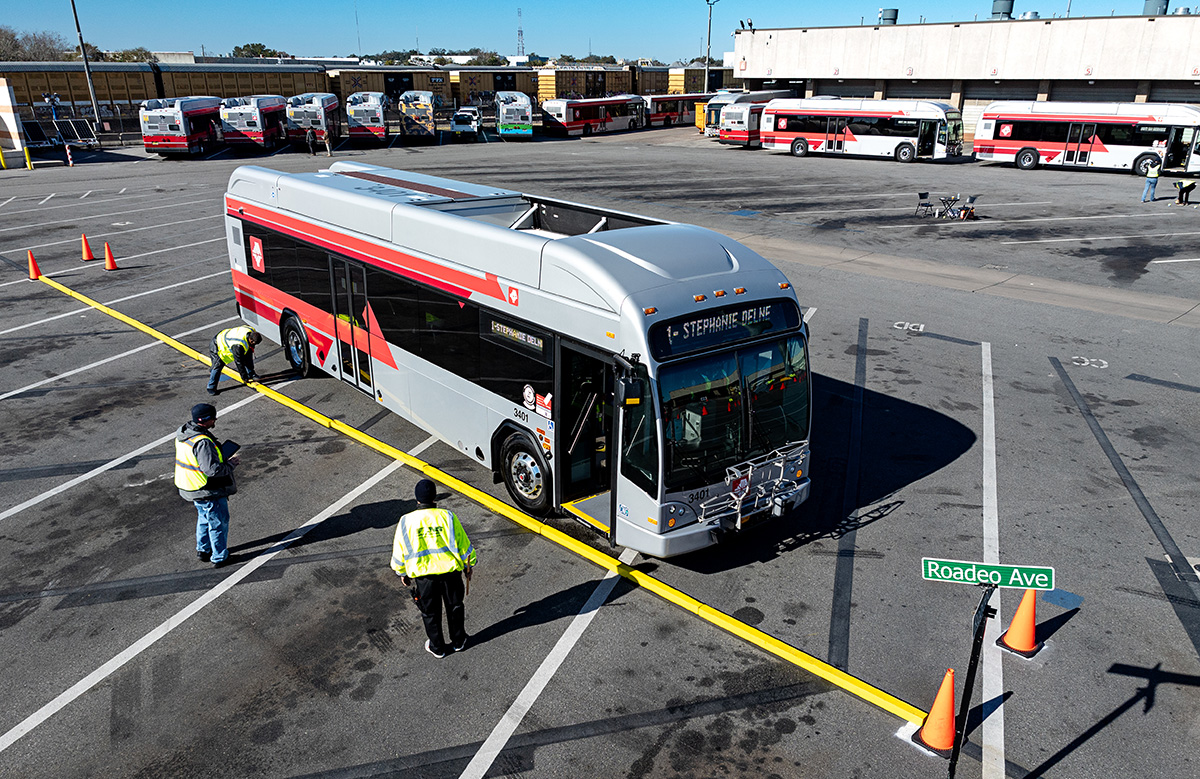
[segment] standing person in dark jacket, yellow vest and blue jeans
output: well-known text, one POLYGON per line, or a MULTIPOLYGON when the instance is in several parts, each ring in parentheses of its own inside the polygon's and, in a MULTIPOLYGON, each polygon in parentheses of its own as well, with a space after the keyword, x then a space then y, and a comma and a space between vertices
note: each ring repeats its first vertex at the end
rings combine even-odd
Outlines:
POLYGON ((216 424, 216 408, 192 407, 192 421, 175 433, 175 486, 196 505, 196 557, 221 568, 229 559, 229 496, 238 491, 233 478, 238 457, 229 451, 234 445, 221 444, 212 435, 216 424))

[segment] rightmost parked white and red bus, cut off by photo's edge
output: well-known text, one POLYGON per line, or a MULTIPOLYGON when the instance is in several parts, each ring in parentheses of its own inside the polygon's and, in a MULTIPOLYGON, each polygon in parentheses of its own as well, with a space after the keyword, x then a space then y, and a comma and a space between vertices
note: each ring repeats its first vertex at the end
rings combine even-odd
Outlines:
POLYGON ((1066 168, 1146 175, 1154 156, 1164 170, 1200 172, 1200 107, 1178 103, 996 102, 976 127, 974 156, 1066 168))

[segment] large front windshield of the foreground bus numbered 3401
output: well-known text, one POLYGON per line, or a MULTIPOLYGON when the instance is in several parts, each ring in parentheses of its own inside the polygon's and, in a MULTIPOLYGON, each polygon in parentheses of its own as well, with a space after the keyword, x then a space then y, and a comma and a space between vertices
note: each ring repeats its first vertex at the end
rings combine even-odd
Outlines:
POLYGON ((809 437, 799 335, 664 366, 658 384, 668 492, 714 484, 730 466, 809 437))

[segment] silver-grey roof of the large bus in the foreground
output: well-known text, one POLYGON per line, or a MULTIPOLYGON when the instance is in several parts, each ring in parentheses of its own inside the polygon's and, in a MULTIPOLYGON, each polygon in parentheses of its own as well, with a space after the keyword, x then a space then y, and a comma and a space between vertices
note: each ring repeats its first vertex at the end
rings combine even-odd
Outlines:
POLYGON ((227 198, 230 210, 294 214, 612 313, 680 281, 696 280, 696 289, 647 305, 686 313, 702 308, 697 292, 752 286, 745 278, 755 271, 769 274, 772 286, 786 281, 754 251, 702 227, 359 162, 314 173, 240 167, 227 198))

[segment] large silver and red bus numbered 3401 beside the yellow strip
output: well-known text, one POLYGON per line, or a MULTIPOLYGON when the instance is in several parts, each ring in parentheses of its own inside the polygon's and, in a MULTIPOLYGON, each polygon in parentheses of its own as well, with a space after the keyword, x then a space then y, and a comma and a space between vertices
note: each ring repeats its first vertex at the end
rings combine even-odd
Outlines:
POLYGON ((238 311, 296 372, 433 433, 526 511, 668 557, 809 496, 808 325, 725 235, 348 161, 238 168, 224 227, 238 311))

